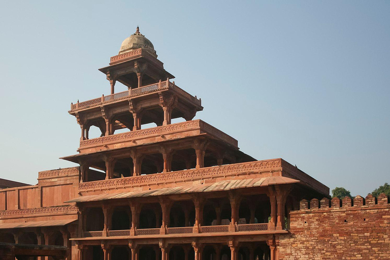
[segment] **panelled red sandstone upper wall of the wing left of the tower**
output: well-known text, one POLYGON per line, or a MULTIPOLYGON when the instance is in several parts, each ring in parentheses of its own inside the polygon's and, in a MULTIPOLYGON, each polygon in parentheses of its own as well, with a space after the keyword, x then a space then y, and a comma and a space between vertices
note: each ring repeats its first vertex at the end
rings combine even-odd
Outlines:
POLYGON ((38 184, 0 189, 0 211, 64 205, 77 196, 79 167, 39 172, 38 184))

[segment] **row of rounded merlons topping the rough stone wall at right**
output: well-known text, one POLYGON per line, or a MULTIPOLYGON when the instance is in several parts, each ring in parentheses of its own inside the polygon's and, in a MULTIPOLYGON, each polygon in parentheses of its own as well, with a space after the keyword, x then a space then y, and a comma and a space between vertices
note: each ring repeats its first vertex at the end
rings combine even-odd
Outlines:
POLYGON ((379 194, 377 198, 368 194, 366 198, 358 195, 353 199, 350 197, 344 197, 343 199, 339 199, 337 197, 332 200, 328 198, 323 198, 322 200, 312 199, 302 200, 299 203, 300 211, 303 210, 329 210, 329 209, 346 209, 346 208, 366 208, 373 206, 383 206, 389 204, 389 197, 385 193, 379 194))

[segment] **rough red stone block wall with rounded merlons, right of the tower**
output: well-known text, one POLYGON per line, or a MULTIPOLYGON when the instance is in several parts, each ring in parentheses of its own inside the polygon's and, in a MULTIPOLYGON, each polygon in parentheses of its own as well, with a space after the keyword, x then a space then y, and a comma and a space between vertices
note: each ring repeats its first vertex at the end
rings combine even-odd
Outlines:
POLYGON ((385 194, 300 202, 279 259, 390 259, 390 204, 385 194))

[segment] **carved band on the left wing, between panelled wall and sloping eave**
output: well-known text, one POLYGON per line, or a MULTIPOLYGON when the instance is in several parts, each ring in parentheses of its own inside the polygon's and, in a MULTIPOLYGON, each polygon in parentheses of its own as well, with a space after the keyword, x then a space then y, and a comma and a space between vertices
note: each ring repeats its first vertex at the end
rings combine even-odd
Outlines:
POLYGON ((77 214, 76 206, 58 206, 34 209, 18 209, 18 210, 3 210, 0 211, 0 218, 20 218, 27 216, 42 216, 42 215, 67 215, 77 214))

